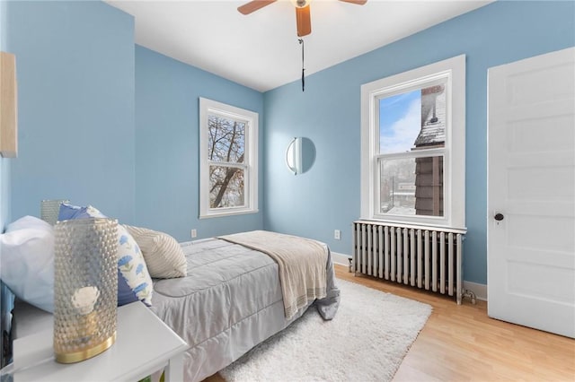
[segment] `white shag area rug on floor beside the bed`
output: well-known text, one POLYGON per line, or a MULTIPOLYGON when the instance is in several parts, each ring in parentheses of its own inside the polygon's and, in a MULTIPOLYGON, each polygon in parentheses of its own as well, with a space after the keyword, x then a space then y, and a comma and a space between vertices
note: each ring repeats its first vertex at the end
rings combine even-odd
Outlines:
POLYGON ((337 285, 341 303, 332 321, 309 308, 220 375, 229 382, 392 380, 431 307, 353 282, 337 285))

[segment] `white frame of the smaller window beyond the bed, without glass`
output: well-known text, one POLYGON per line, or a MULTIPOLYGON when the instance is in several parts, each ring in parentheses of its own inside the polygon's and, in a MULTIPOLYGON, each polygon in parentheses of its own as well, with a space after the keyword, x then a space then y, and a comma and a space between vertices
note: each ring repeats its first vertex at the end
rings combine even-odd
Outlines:
MULTIPOLYGON (((258 113, 199 97, 199 219, 258 213, 258 113), (244 205, 209 207, 208 116, 217 114, 245 122, 244 205)), ((221 164, 221 163, 217 163, 221 164)))

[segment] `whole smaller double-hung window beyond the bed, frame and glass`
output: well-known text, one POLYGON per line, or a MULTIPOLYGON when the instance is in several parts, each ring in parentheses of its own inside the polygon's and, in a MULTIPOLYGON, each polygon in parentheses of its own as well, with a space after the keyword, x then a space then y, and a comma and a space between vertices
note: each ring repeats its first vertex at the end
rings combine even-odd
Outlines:
POLYGON ((258 212, 258 114, 199 99, 199 217, 258 212))

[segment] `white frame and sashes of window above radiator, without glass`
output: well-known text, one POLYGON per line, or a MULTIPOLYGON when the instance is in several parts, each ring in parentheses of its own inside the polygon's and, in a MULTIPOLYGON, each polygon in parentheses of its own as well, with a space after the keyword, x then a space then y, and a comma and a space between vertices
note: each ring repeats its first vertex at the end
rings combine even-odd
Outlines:
POLYGON ((361 86, 361 218, 464 229, 465 225, 465 55, 395 74, 361 86), (447 79, 446 142, 441 149, 408 154, 379 153, 379 100, 447 79), (379 160, 436 155, 444 157, 444 215, 379 213, 379 160))

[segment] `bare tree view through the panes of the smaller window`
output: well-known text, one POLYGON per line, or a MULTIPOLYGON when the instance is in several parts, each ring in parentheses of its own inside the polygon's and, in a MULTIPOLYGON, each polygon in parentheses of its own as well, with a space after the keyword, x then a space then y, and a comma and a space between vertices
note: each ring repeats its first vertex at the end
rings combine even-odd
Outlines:
POLYGON ((210 208, 245 205, 245 130, 243 121, 208 116, 210 208))

